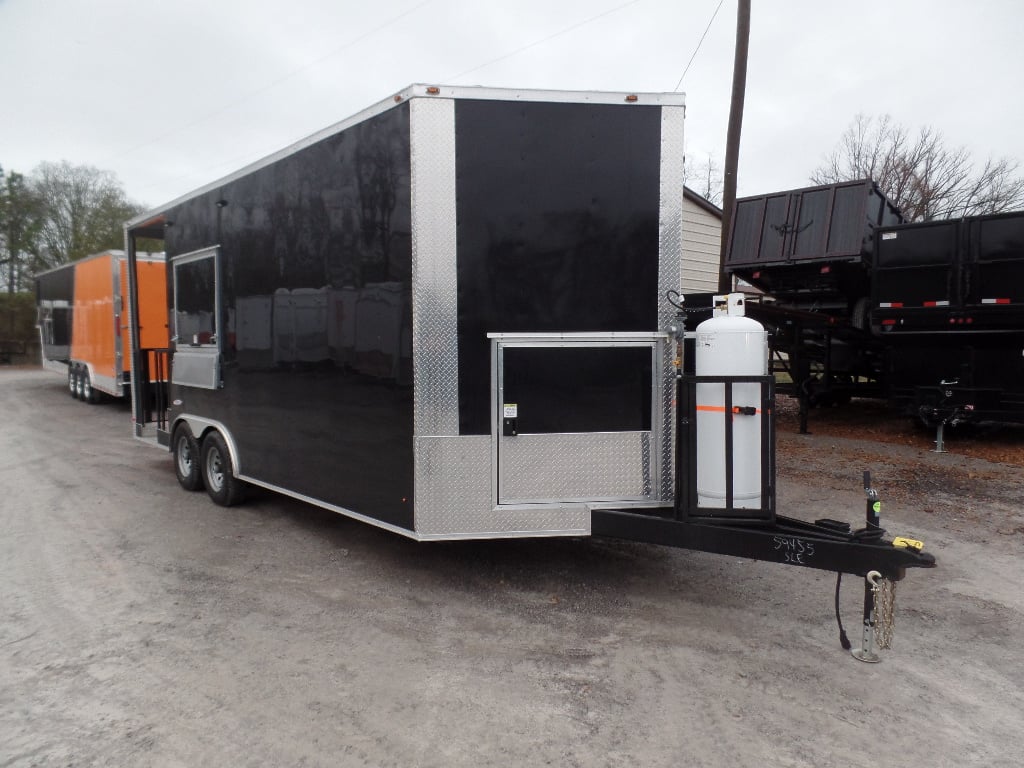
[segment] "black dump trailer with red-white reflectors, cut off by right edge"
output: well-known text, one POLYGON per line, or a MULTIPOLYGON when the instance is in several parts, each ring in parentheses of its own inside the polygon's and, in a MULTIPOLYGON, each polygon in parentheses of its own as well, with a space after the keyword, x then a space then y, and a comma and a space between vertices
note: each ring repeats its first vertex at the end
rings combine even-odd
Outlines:
POLYGON ((930 424, 1024 423, 1024 212, 877 237, 870 325, 893 401, 930 424))

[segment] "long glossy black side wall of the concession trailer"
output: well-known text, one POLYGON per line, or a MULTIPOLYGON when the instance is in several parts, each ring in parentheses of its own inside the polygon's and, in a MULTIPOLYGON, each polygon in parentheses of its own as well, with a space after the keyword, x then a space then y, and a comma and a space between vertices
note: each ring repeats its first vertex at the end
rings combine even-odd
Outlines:
POLYGON ((282 359, 272 345, 239 349, 238 326, 265 323, 278 333, 281 317, 254 318, 251 307, 276 312, 282 290, 330 287, 399 296, 387 311, 400 314, 394 321, 410 338, 408 103, 194 198, 167 218, 169 278, 175 256, 219 244, 218 328, 227 331, 224 390, 179 388, 187 401, 172 403, 172 413, 230 425, 245 475, 411 529, 411 352, 389 349, 401 358, 384 359, 365 347, 282 359))

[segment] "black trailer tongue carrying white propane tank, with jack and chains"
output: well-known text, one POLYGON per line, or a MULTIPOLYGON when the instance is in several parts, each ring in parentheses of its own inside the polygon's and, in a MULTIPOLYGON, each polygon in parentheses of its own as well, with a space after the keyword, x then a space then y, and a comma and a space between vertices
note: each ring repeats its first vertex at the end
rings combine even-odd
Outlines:
MULTIPOLYGON (((701 323, 692 335, 684 332, 685 315, 681 302, 677 304, 678 348, 682 350, 684 336, 695 338, 695 368, 702 375, 680 373, 677 377, 677 490, 673 509, 655 514, 649 510, 595 509, 591 532, 830 570, 840 579, 843 573, 862 577, 864 629, 861 647, 854 655, 877 662, 873 648, 880 590, 894 589, 907 568, 935 567, 935 557, 924 551, 922 542, 886 537, 881 525, 882 503, 866 471, 863 527, 853 528, 827 517, 809 522, 776 514, 774 379, 731 373, 766 367, 767 341, 758 338, 764 334, 759 324, 749 318, 737 324, 743 315, 740 295, 716 296, 715 302, 715 317, 701 323), (753 453, 752 446, 757 449, 753 453), (883 580, 889 584, 882 584, 883 580)), ((677 365, 681 372, 681 354, 677 365)), ((838 618, 839 582, 836 594, 838 618)), ((840 628, 843 645, 849 649, 842 623, 840 628)))

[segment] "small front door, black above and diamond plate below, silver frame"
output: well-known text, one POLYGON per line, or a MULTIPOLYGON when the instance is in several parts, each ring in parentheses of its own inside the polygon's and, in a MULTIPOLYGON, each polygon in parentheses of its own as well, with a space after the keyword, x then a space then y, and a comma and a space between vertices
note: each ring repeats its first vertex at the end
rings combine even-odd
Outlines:
POLYGON ((495 341, 499 505, 657 499, 662 345, 646 336, 495 341))

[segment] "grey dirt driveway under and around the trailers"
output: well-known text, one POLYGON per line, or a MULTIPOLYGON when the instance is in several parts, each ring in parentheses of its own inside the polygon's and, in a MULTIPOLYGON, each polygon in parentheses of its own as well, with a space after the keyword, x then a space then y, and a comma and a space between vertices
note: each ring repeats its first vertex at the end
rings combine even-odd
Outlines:
POLYGON ((781 425, 781 511, 859 523, 869 469, 939 559, 865 665, 824 572, 221 509, 52 374, 0 413, 2 766, 1024 765, 1021 467, 781 425))

